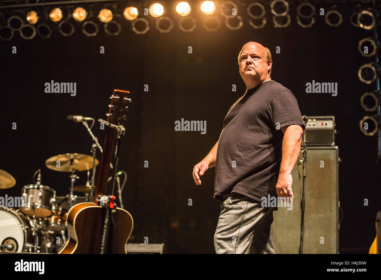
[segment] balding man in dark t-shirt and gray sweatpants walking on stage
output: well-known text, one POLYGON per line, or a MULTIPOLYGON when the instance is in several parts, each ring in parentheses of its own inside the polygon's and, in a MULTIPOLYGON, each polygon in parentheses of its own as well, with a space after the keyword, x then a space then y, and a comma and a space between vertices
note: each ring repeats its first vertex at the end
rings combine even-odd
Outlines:
POLYGON ((291 199, 292 176, 305 129, 298 102, 290 90, 271 80, 271 53, 249 42, 240 51, 245 94, 229 109, 210 153, 193 168, 201 184, 215 170, 214 198, 221 213, 214 236, 216 253, 276 253, 273 211, 264 198, 291 199))

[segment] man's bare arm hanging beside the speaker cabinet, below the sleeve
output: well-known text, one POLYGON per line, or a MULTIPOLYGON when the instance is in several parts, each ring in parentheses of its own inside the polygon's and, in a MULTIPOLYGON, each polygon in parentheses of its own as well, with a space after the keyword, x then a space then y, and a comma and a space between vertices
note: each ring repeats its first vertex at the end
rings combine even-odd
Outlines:
POLYGON ((293 199, 291 172, 299 157, 303 128, 300 125, 287 125, 280 129, 284 135, 282 142, 282 161, 280 162, 276 190, 279 197, 291 197, 291 199, 293 199))

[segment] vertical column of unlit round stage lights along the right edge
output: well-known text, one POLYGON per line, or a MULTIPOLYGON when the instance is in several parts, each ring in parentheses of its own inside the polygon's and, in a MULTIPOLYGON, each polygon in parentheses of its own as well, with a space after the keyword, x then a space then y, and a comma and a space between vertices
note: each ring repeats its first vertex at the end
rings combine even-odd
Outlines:
MULTIPOLYGON (((361 10, 360 7, 355 7, 354 14, 351 17, 351 22, 355 27, 374 31, 377 24, 381 24, 378 11, 374 8, 361 10)), ((377 32, 375 32, 377 34, 377 32)), ((381 128, 380 105, 381 93, 379 91, 379 74, 381 66, 378 63, 378 50, 380 42, 378 36, 369 36, 359 41, 358 49, 365 58, 374 58, 373 62, 365 63, 360 66, 357 75, 361 82, 371 85, 376 82, 376 89, 367 91, 360 97, 360 104, 367 112, 376 112, 376 114, 364 116, 360 120, 360 131, 366 136, 373 136, 381 128)))

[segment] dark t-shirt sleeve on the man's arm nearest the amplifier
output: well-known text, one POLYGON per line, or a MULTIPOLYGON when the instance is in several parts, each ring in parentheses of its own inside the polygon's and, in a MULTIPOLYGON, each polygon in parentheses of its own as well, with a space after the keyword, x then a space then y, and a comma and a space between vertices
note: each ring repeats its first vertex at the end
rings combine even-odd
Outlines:
POLYGON ((306 128, 299 110, 298 101, 291 91, 281 91, 271 101, 272 121, 274 127, 280 124, 280 128, 287 125, 300 125, 306 128))

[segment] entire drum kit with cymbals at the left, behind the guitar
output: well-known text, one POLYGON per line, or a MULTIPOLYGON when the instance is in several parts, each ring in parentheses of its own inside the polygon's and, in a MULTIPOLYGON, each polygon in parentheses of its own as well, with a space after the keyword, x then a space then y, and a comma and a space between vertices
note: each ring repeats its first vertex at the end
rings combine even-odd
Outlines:
MULTIPOLYGON (((70 193, 57 203, 56 191, 41 184, 41 171, 37 170, 33 176, 34 184, 22 188, 19 201, 24 203, 12 207, 0 204, 0 252, 58 253, 68 239, 68 208, 78 203, 74 192, 85 194, 86 202, 92 202, 95 186, 94 176, 90 181, 90 170, 94 170, 98 163, 95 153, 93 156, 74 153, 48 158, 47 168, 71 173, 70 193), (87 171, 86 185, 74 186, 80 171, 87 171)), ((15 185, 13 176, 0 170, 0 189, 15 185)))

